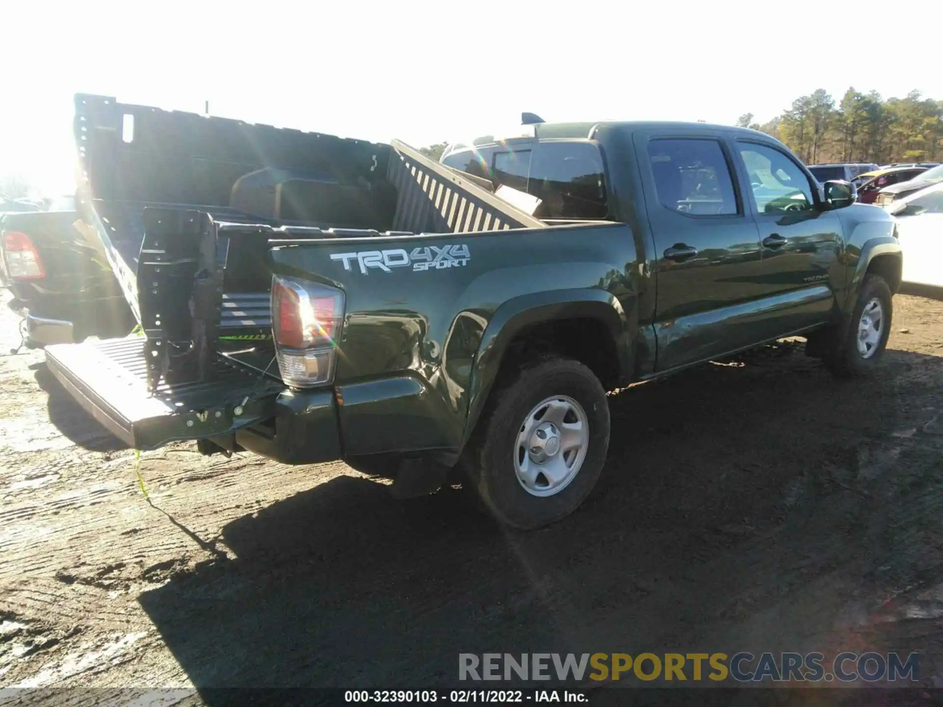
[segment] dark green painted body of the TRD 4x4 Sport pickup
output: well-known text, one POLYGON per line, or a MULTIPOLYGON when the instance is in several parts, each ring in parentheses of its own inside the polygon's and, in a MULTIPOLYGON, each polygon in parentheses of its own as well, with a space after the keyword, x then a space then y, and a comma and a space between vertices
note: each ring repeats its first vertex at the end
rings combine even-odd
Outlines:
MULTIPOLYGON (((589 127, 561 125, 554 137, 585 139, 589 127)), ((617 359, 611 383, 624 386, 833 323, 853 299, 855 271, 867 268, 849 255, 872 238, 900 253, 883 210, 820 203, 798 160, 794 177, 808 181, 813 206, 799 214, 766 208, 753 196, 744 146, 761 143, 793 159, 769 136, 706 124, 600 123, 592 137, 606 160, 611 222, 273 248, 275 273, 346 294, 336 379, 345 453, 460 450, 508 347, 533 327, 576 321, 572 338, 605 332, 617 359), (712 140, 726 161, 732 212, 661 204, 649 142, 690 138, 712 140), (765 245, 773 233, 786 243, 765 245), (697 255, 670 259, 680 243, 697 255), (364 272, 356 258, 347 270, 331 257, 448 245, 467 246, 467 264, 364 272)))

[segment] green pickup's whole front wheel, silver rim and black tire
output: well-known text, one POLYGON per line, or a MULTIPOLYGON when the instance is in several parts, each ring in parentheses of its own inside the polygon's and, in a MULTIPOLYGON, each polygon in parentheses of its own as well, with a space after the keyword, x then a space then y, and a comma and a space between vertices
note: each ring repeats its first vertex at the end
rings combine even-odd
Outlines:
POLYGON ((893 313, 891 291, 884 278, 865 275, 844 337, 825 355, 836 376, 852 378, 874 370, 884 355, 893 313))

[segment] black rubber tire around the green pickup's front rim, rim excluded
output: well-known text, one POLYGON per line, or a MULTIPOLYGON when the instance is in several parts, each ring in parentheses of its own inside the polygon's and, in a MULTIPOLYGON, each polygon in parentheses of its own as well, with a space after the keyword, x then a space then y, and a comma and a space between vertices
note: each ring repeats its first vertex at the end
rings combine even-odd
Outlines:
POLYGON ((868 274, 861 284, 858 300, 851 317, 844 326, 836 330, 837 340, 823 355, 825 364, 838 378, 856 378, 869 375, 881 362, 890 336, 891 321, 894 314, 893 296, 885 279, 880 275, 868 274), (873 350, 866 357, 858 351, 858 324, 865 307, 877 300, 881 304, 881 336, 873 350))

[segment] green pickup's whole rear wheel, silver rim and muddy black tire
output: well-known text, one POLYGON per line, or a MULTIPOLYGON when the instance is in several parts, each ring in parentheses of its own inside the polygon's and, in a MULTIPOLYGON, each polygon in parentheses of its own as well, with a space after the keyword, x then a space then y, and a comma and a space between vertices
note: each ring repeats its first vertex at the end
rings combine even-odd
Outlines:
POLYGON ((463 455, 465 484, 506 525, 529 530, 586 500, 609 446, 609 405, 592 371, 550 358, 495 391, 463 455))

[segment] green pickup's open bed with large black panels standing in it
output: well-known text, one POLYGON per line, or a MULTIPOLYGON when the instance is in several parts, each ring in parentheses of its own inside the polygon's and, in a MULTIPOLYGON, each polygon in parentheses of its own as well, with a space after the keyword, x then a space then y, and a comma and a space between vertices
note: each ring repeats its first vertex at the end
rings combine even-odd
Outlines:
POLYGON ((151 391, 207 381, 227 342, 271 338, 273 241, 545 225, 396 141, 86 94, 75 96, 74 132, 79 210, 141 324, 151 391))

